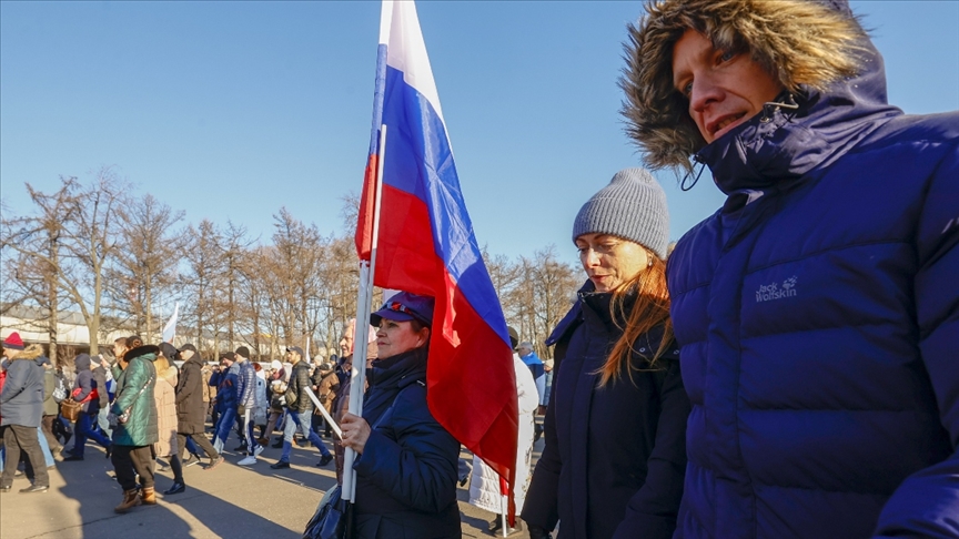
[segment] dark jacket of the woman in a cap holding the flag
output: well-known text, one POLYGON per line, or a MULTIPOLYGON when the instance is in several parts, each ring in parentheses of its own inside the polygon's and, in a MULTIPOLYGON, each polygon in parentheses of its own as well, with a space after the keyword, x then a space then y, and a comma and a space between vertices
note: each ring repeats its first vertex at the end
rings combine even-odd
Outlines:
POLYGON ((373 427, 356 470, 357 538, 458 538, 460 443, 426 405, 427 348, 373 363, 363 418, 373 427))

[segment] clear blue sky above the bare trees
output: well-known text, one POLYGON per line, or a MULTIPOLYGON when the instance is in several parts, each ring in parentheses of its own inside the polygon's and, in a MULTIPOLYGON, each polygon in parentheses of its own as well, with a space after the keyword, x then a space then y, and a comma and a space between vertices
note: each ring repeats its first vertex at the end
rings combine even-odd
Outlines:
MULTIPOLYGON (((959 109, 959 2, 852 2, 886 59, 889 101, 959 109)), ((616 80, 639 2, 417 4, 481 245, 555 244, 576 260, 579 206, 640 165, 616 80)), ((269 242, 285 206, 342 230, 372 118, 378 2, 0 2, 0 197, 115 170, 186 221, 269 242)), ((675 240, 721 204, 659 174, 675 240)))

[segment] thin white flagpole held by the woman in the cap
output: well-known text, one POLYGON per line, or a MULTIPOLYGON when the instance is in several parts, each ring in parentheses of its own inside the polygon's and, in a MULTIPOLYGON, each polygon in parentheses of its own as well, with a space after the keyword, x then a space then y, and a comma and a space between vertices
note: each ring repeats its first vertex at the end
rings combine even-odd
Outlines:
MULTIPOLYGON (((370 340, 370 312, 373 302, 373 279, 376 271, 376 247, 380 243, 380 201, 383 197, 383 162, 386 156, 386 124, 380 125, 376 191, 373 203, 373 235, 370 260, 360 261, 360 291, 356 294, 356 323, 353 325, 353 368, 350 377, 350 414, 363 415, 363 394, 366 386, 366 350, 370 340), (363 327, 362 336, 360 328, 363 327)), ((343 457, 343 499, 356 502, 356 451, 346 448, 343 457)))

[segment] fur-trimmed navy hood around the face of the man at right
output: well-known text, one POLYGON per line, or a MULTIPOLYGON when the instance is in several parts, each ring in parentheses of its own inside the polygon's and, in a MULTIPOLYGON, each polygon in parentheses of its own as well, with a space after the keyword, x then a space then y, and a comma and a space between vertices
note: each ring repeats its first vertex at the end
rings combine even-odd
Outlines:
POLYGON ((801 120, 817 106, 890 109, 882 59, 845 0, 663 0, 647 3, 646 11, 629 26, 619 85, 626 93, 627 133, 654 169, 690 171, 690 157, 706 162, 697 152, 728 146, 727 140, 743 139, 744 131, 781 140, 776 131, 783 124, 801 120), (784 114, 767 106, 707 146, 689 118, 687 99, 673 87, 673 47, 687 29, 707 35, 718 49, 749 51, 786 88, 777 101, 795 99, 799 110, 784 114))

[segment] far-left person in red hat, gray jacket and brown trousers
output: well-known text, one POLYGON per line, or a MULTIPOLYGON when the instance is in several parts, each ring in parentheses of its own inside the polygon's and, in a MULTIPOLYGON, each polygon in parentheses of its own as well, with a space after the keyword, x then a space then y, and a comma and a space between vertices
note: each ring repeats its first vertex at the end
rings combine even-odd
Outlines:
POLYGON ((40 449, 39 426, 43 414, 43 348, 38 344, 23 344, 20 334, 11 333, 3 340, 7 356, 7 376, 0 391, 0 426, 3 427, 6 459, 0 475, 0 492, 13 488, 13 474, 20 464, 20 454, 27 454, 33 485, 21 488, 21 494, 46 492, 50 488, 47 464, 40 449))

